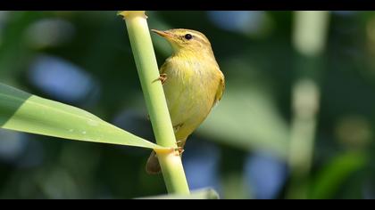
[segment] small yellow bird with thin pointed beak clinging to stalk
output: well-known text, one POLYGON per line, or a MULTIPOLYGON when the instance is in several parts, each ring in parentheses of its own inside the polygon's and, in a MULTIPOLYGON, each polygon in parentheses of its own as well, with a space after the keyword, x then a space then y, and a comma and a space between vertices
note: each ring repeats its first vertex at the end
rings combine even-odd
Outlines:
MULTIPOLYGON (((165 98, 178 146, 204 121, 212 107, 221 100, 225 88, 210 41, 204 34, 190 29, 152 30, 171 44, 173 54, 160 69, 165 98)), ((146 172, 161 171, 153 151, 146 172)))

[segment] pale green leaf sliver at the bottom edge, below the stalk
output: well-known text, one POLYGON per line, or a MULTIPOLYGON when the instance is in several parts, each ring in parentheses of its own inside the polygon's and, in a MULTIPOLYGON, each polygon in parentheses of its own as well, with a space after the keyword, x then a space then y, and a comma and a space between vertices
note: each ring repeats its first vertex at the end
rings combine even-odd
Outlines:
POLYGON ((140 199, 219 199, 219 194, 212 189, 193 190, 190 195, 162 195, 140 199))

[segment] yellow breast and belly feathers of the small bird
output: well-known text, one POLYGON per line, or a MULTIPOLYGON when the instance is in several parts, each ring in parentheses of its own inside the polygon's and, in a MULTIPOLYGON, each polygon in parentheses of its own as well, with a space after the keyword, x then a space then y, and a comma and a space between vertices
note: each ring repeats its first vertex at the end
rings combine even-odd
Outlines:
POLYGON ((217 64, 199 61, 168 61, 163 85, 173 125, 185 125, 186 133, 196 129, 212 109, 220 81, 217 64))

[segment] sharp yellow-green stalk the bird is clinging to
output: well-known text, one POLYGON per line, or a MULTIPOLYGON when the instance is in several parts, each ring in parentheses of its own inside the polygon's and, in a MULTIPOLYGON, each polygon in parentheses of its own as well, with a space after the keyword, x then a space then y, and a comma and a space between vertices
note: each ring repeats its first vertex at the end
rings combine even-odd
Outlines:
POLYGON ((189 194, 181 158, 174 150, 177 148, 176 138, 162 83, 158 80, 159 70, 145 11, 124 11, 119 12, 119 14, 126 21, 130 44, 156 142, 163 147, 171 148, 170 152, 155 149, 162 167, 165 185, 169 193, 189 194))

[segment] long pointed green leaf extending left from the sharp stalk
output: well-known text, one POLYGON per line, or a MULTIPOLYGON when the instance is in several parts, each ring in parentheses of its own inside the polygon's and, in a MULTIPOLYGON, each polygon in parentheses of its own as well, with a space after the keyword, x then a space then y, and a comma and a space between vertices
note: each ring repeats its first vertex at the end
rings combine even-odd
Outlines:
POLYGON ((0 126, 78 141, 164 149, 83 109, 47 100, 4 84, 0 84, 0 126))

